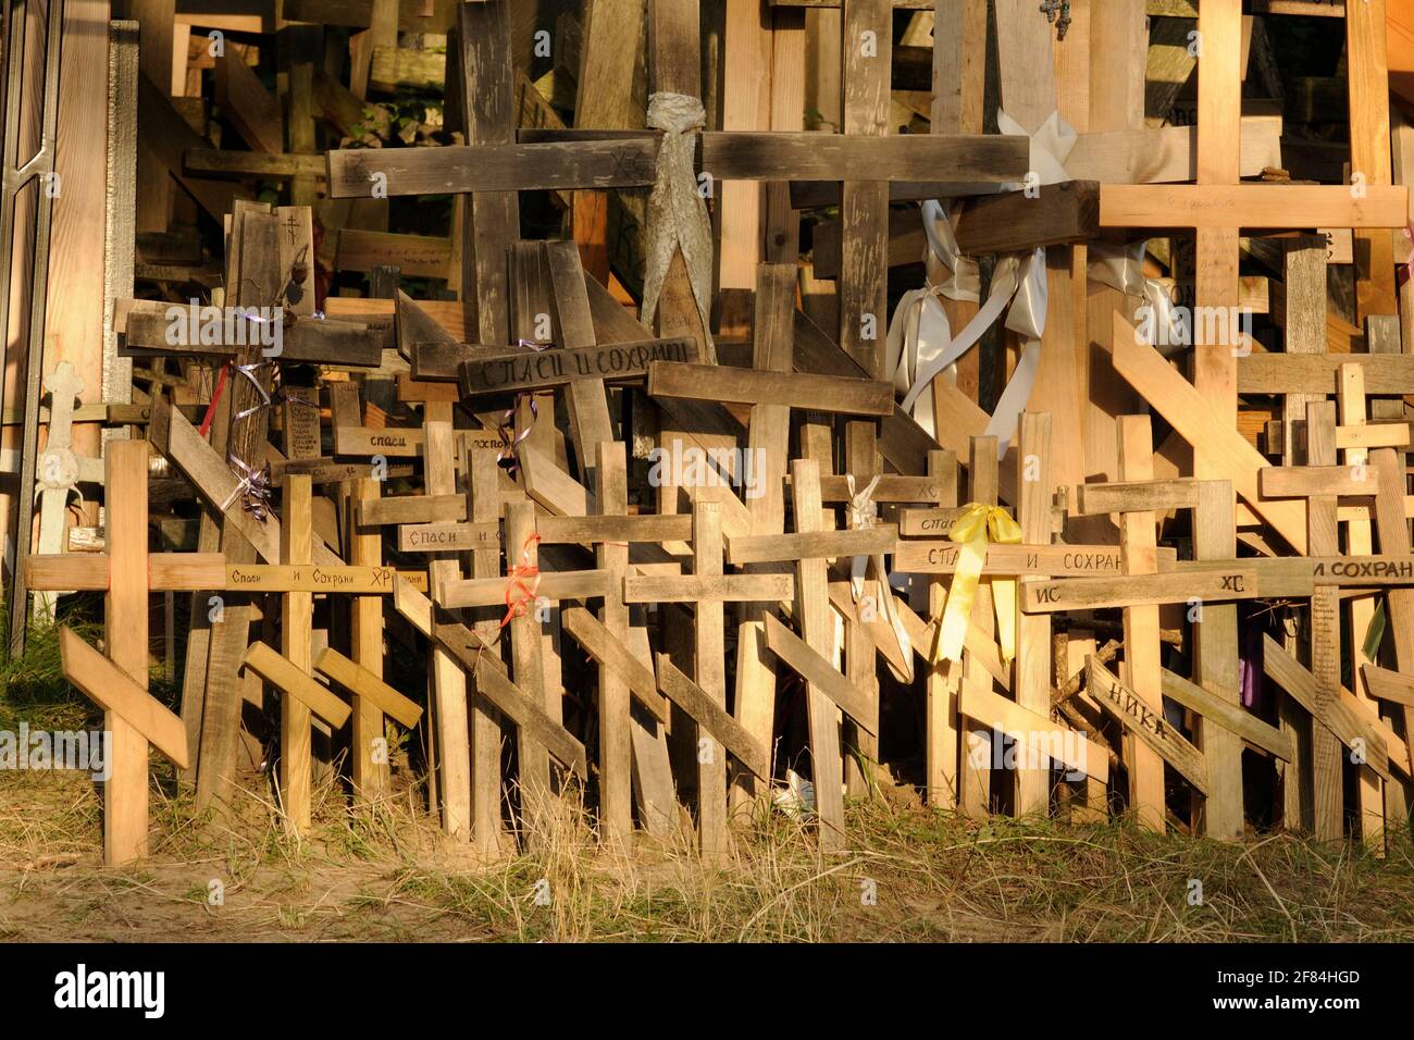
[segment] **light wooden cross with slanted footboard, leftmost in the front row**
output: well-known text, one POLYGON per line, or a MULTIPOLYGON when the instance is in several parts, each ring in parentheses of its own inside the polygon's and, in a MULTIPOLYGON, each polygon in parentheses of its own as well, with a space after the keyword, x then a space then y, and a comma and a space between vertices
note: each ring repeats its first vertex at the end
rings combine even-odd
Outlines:
POLYGON ((31 556, 25 562, 31 589, 106 591, 106 657, 66 628, 59 648, 65 676, 103 709, 103 727, 112 733, 103 798, 107 865, 147 855, 148 744, 156 744, 178 768, 189 764, 181 719, 147 693, 147 594, 219 587, 225 573, 219 553, 148 556, 147 456, 144 440, 107 444, 106 555, 31 556))

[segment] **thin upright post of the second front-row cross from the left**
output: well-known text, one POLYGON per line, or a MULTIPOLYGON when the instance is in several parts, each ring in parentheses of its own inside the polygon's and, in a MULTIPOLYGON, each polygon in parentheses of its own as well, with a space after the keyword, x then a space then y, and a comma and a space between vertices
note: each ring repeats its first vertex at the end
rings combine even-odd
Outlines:
MULTIPOLYGON (((314 516, 308 475, 284 478, 284 516, 280 524, 280 559, 310 563, 314 559, 314 516)), ((314 593, 281 596, 280 642, 284 658, 300 671, 314 672, 310 627, 314 621, 314 593)), ((280 802, 286 822, 296 832, 310 826, 310 727, 314 719, 298 698, 280 698, 280 802)))

